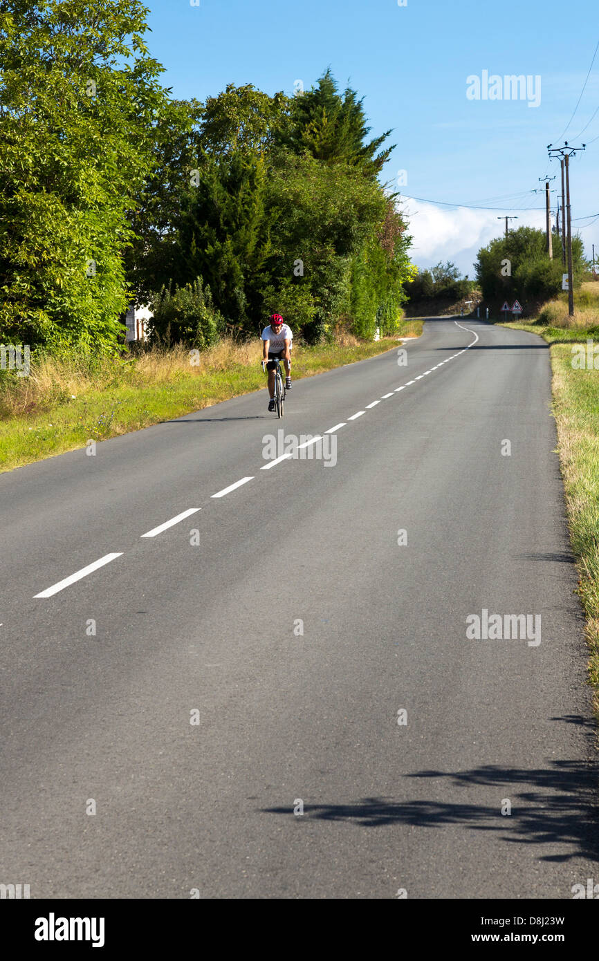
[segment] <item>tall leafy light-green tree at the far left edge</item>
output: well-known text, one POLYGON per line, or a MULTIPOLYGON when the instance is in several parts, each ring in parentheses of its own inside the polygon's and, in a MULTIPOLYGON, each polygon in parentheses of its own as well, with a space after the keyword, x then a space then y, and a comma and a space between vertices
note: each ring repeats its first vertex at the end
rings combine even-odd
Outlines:
POLYGON ((138 0, 0 8, 3 339, 111 349, 126 308, 126 220, 168 97, 138 0))

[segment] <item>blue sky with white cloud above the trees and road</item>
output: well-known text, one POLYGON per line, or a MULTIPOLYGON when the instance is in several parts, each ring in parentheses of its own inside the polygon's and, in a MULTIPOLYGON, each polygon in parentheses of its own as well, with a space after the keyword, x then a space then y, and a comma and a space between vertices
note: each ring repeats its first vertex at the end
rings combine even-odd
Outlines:
MULTIPOLYGON (((529 210, 542 208, 543 196, 530 191, 542 187, 537 179, 547 170, 553 176, 560 169, 556 161, 548 163, 546 145, 562 135, 599 40, 599 14, 590 0, 407 0, 401 7, 397 0, 146 4, 150 50, 165 67, 162 81, 174 96, 204 100, 230 83, 291 94, 295 81, 309 88, 331 66, 341 87, 349 83, 364 97, 371 136, 393 128, 389 142, 397 146, 385 180, 396 185, 398 171, 405 170, 407 184, 396 185, 403 194, 500 208, 407 201, 412 259, 419 266, 451 259, 472 276, 476 251, 499 233, 496 218, 503 212, 519 217, 513 226, 544 227, 544 210, 529 210), (484 70, 502 78, 539 76, 539 105, 469 100, 466 78, 482 77, 484 70)), ((597 107, 599 52, 565 138, 579 144, 599 137, 598 111, 576 139, 597 107)), ((574 218, 599 213, 598 158, 599 138, 572 160, 574 218)), ((589 255, 591 242, 599 250, 599 220, 581 235, 589 255)))

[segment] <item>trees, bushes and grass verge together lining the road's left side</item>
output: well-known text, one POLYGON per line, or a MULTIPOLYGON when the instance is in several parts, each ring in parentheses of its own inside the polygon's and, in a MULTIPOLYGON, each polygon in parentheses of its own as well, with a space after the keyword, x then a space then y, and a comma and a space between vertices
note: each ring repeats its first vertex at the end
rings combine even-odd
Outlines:
POLYGON ((296 380, 418 327, 390 131, 368 136, 357 91, 327 69, 293 95, 174 100, 147 14, 0 12, 0 469, 258 390, 274 312, 296 380), (153 314, 142 345, 132 305, 153 314))

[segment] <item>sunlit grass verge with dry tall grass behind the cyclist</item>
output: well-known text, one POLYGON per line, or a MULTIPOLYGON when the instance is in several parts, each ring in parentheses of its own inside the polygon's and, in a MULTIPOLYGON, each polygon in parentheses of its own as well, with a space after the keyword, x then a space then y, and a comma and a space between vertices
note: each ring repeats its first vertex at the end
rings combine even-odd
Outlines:
MULTIPOLYGON (((422 322, 403 321, 401 336, 418 336, 422 322)), ((301 346, 293 352, 294 381, 397 347, 397 339, 301 346)), ((156 348, 125 359, 48 357, 32 364, 29 377, 0 382, 0 472, 83 448, 212 407, 260 390, 260 341, 222 340, 194 357, 182 347, 156 348)), ((1 372, 5 373, 5 372, 1 372)))

